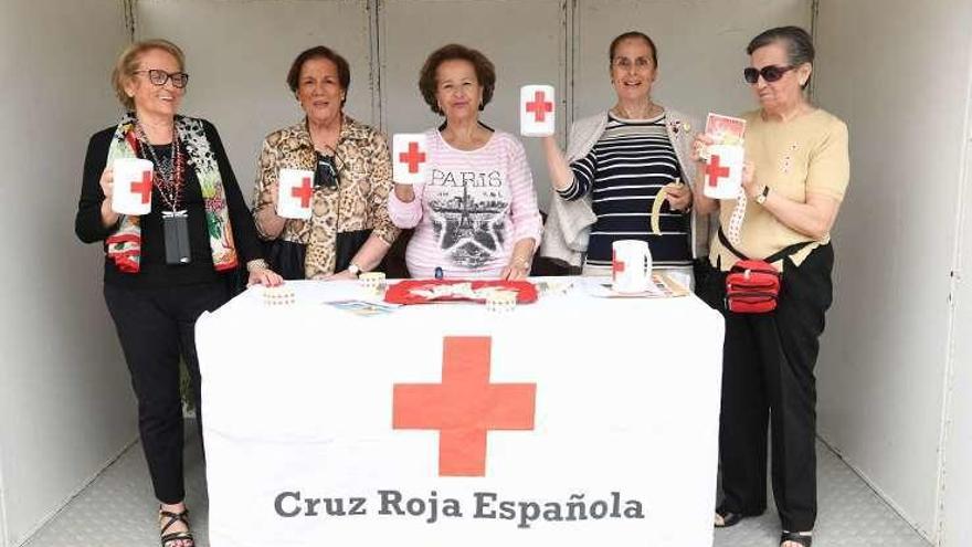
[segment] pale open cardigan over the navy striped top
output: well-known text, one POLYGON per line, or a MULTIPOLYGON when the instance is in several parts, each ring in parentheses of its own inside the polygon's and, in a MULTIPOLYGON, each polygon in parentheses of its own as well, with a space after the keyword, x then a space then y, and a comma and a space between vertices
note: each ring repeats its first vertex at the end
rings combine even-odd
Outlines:
MULTIPOLYGON (((693 133, 701 129, 697 120, 669 108, 665 109, 668 139, 675 148, 675 156, 689 188, 695 183, 696 162, 691 160, 693 133)), ((567 162, 583 158, 594 148, 598 139, 608 127, 608 112, 579 119, 571 125, 567 144, 567 162)), ((543 230, 540 255, 563 261, 572 266, 583 265, 588 251, 591 227, 598 217, 591 209, 591 192, 582 199, 567 201, 554 190, 550 197, 550 213, 543 230)), ((708 255, 709 218, 693 211, 690 223, 691 256, 708 255)))

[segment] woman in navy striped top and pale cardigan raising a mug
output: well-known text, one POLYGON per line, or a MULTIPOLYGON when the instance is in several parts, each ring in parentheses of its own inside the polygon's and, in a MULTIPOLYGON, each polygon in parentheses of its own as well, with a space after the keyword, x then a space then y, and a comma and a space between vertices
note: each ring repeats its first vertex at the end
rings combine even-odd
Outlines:
POLYGON ((690 284, 708 227, 689 212, 695 124, 652 98, 658 55, 651 38, 625 32, 611 42, 608 57, 614 106, 573 124, 566 157, 556 137, 543 138, 553 196, 540 253, 582 266, 584 275, 611 275, 613 243, 642 240, 655 267, 690 284), (656 231, 651 213, 663 189, 656 231))

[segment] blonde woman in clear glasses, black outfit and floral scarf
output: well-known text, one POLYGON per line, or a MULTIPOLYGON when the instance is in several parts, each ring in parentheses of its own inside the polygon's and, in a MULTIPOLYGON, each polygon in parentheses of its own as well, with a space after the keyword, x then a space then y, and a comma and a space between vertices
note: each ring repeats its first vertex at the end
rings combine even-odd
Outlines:
MULTIPOLYGON (((182 51, 165 40, 136 42, 112 76, 127 114, 88 144, 75 232, 106 252, 104 294, 138 400, 138 429, 160 502, 162 547, 191 547, 183 503, 180 358, 200 407, 194 324, 229 298, 230 275, 245 264, 250 283, 276 285, 253 219, 215 127, 178 115, 189 76, 182 51), (151 212, 112 210, 116 159, 152 162, 151 212)), ((116 185, 117 182, 117 185, 116 185)), ((116 188, 117 186, 117 188, 116 188)), ((202 415, 199 429, 202 430, 202 415)))

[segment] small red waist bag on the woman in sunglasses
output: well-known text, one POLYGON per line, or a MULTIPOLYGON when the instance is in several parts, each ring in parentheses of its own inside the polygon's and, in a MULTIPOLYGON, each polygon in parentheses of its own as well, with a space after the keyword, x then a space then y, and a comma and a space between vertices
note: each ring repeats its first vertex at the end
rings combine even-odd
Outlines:
POLYGON ((765 260, 750 260, 729 243, 721 228, 719 241, 739 257, 726 275, 726 308, 737 314, 765 314, 776 309, 783 278, 772 263, 813 243, 796 243, 767 256, 765 260))

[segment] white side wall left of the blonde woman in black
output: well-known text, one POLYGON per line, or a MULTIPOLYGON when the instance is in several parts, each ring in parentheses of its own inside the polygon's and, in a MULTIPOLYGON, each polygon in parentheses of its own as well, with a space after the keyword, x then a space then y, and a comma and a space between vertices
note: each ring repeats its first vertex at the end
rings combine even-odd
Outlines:
POLYGON ((125 43, 118 0, 3 2, 0 526, 11 546, 136 436, 103 254, 74 236, 87 138, 117 118, 108 76, 125 43))

